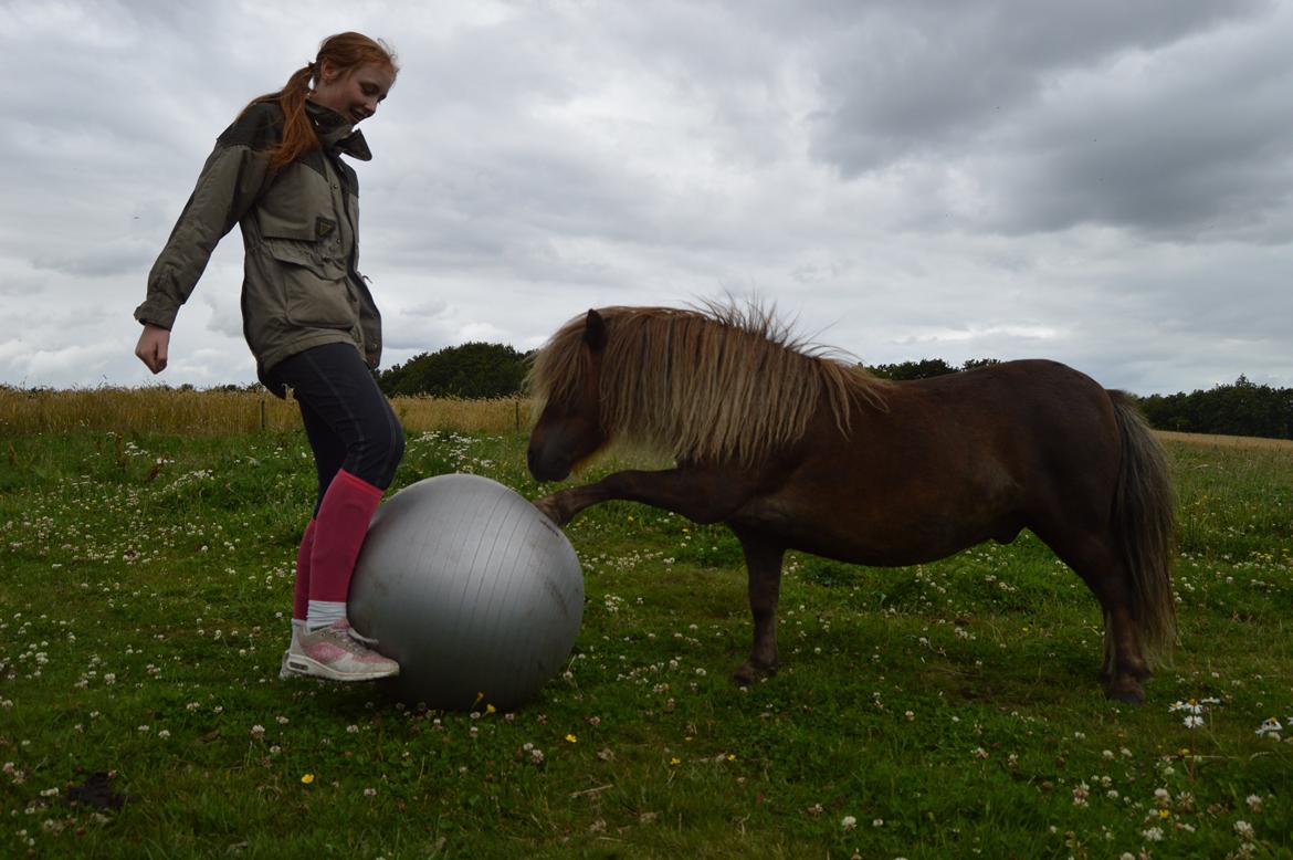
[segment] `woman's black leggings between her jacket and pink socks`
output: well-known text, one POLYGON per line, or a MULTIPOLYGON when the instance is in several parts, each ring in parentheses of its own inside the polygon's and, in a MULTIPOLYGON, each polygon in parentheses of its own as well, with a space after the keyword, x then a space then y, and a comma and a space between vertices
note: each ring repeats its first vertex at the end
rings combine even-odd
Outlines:
POLYGON ((403 457, 403 427, 352 344, 288 356, 269 369, 266 382, 291 388, 300 403, 319 478, 315 516, 343 468, 379 489, 390 486, 403 457))

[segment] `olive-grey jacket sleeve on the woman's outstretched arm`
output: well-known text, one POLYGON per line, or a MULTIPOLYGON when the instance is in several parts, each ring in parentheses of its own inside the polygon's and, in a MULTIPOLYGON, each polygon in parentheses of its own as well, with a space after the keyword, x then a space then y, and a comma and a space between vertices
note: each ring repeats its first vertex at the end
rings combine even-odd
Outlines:
POLYGON ((147 295, 134 318, 163 328, 175 325, 220 239, 247 213, 274 178, 269 149, 281 133, 274 113, 256 105, 216 141, 166 247, 149 272, 147 295))

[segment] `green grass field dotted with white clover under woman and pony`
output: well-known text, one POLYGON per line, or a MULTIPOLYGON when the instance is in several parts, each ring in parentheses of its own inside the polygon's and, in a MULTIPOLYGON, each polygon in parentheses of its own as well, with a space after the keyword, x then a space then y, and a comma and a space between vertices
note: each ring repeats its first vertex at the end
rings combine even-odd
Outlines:
MULTIPOLYGON (((1096 604, 1028 534, 893 570, 790 556, 782 671, 740 691, 734 539, 609 503, 568 530, 566 671, 472 716, 278 679, 300 433, 6 442, 0 856, 1293 851, 1293 745, 1257 733, 1293 722, 1285 451, 1170 447, 1182 644, 1143 706, 1102 697, 1096 604), (96 772, 120 808, 69 806, 96 772)), ((397 481, 449 471, 539 494, 511 435, 414 435, 397 481)))

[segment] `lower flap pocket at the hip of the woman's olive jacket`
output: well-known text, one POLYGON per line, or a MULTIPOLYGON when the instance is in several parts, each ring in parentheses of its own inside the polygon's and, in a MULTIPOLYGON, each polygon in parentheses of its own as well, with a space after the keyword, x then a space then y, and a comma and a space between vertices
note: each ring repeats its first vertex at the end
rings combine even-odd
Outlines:
POLYGON ((326 253, 326 243, 295 239, 264 242, 282 285, 283 312, 296 326, 353 328, 358 309, 350 296, 345 263, 326 253))

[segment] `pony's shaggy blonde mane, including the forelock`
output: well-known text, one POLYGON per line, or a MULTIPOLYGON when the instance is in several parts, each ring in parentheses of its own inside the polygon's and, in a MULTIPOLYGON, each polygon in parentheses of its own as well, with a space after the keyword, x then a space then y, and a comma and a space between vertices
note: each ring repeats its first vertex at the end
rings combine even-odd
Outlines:
MULTIPOLYGON (((604 308, 601 424, 608 438, 679 460, 762 462, 798 441, 825 397, 847 433, 859 403, 883 409, 887 383, 796 338, 756 304, 702 309, 604 308)), ((539 350, 528 385, 534 415, 579 396, 586 317, 539 350)))

